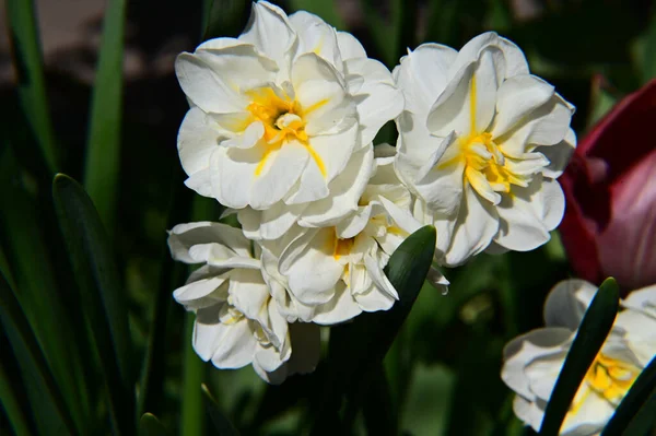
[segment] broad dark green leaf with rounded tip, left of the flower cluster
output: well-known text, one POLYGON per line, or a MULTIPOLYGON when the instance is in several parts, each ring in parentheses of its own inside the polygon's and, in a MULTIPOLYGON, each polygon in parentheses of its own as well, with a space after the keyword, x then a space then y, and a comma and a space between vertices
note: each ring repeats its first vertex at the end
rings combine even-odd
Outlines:
POLYGON ((57 175, 52 181, 52 197, 83 310, 103 365, 113 424, 115 431, 129 433, 134 428, 132 346, 126 296, 107 234, 93 202, 75 180, 57 175))

